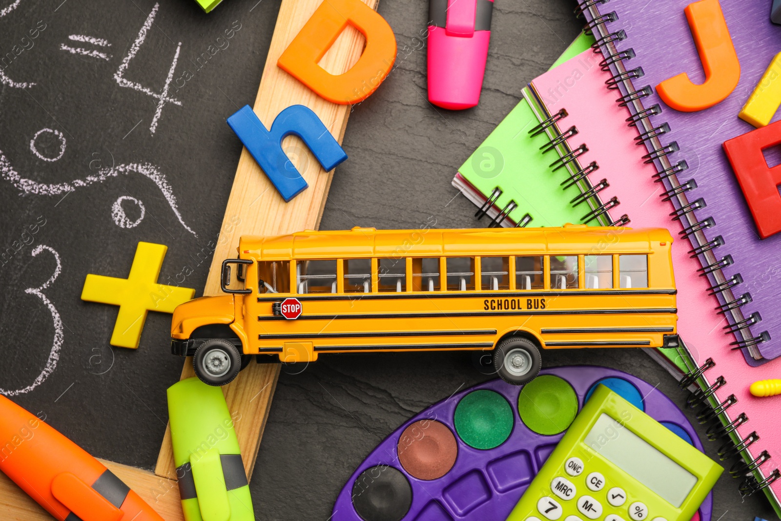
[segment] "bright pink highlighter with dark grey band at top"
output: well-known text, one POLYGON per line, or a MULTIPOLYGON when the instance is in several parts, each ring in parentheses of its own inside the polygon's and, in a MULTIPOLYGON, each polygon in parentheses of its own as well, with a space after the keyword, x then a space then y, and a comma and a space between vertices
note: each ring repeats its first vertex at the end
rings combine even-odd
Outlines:
POLYGON ((430 0, 429 101, 443 109, 480 102, 494 0, 430 0))

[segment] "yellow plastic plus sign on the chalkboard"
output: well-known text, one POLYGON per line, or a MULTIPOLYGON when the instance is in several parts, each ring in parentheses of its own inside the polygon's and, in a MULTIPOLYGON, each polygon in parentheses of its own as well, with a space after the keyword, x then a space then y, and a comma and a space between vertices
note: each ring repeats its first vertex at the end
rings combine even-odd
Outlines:
POLYGON ((194 297, 195 290, 189 287, 157 284, 167 250, 165 244, 139 242, 127 279, 87 274, 81 300, 119 306, 112 345, 137 348, 147 312, 173 313, 177 305, 194 297))

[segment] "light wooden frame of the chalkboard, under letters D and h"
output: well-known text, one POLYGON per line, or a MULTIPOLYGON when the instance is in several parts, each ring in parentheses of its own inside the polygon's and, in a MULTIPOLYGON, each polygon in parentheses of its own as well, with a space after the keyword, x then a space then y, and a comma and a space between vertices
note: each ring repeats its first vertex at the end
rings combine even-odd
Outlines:
MULTIPOLYGON (((323 0, 283 0, 253 109, 268 128, 271 127, 276 115, 290 105, 306 105, 319 116, 333 137, 341 143, 344 129, 347 127, 350 107, 326 102, 276 66, 276 60, 322 2, 323 0)), ((378 0, 362 0, 362 2, 376 9, 378 0)), ((362 34, 348 26, 323 56, 320 66, 332 74, 344 73, 358 61, 364 45, 362 34)), ((246 103, 246 100, 240 99, 231 101, 234 102, 237 110, 246 103)), ((234 185, 230 190, 230 198, 223 217, 223 227, 220 230, 209 277, 206 280, 205 295, 221 293, 219 272, 223 259, 236 256, 241 235, 287 234, 299 230, 315 230, 319 227, 333 172, 324 172, 319 162, 298 137, 286 137, 283 148, 290 155, 297 156, 297 159, 292 161, 309 187, 291 202, 284 202, 266 174, 260 170, 255 159, 252 159, 246 148, 242 149, 234 185)), ((236 434, 248 477, 251 477, 255 467, 255 459, 258 456, 260 440, 266 426, 279 373, 279 364, 252 362, 247 369, 239 373, 236 380, 223 387, 228 409, 231 415, 237 418, 236 434)), ((190 376, 194 376, 192 360, 187 359, 181 378, 190 376)), ((160 399, 165 397, 161 396, 160 399)), ((166 428, 155 473, 113 462, 103 463, 152 505, 166 521, 184 519, 176 484, 169 428, 166 428)), ((6 516, 10 516, 10 519, 20 521, 52 519, 44 509, 41 509, 2 473, 0 473, 0 509, 6 516)))

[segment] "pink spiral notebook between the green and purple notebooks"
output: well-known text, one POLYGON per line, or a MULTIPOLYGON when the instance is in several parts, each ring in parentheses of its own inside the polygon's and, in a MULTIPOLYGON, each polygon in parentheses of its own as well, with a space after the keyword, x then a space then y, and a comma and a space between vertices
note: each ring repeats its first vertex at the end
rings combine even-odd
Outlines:
MULTIPOLYGON (((701 385, 704 389, 713 385, 715 390, 703 398, 712 398, 716 404, 739 404, 726 407, 722 422, 741 423, 733 432, 735 442, 760 438, 744 450, 744 458, 753 461, 767 451, 767 460, 758 469, 761 476, 757 476, 765 479, 781 460, 777 402, 754 398, 748 387, 754 380, 779 377, 781 367, 775 362, 751 367, 740 353, 731 351, 729 344, 735 337, 724 316, 715 311, 719 301, 709 294, 708 277, 700 276, 700 262, 690 256, 694 245, 682 237, 681 221, 670 215, 675 208, 665 200, 669 187, 654 182, 658 179, 656 167, 644 162, 644 142, 637 128, 627 123, 629 109, 616 103, 621 94, 608 88, 612 73, 601 70, 601 59, 601 54, 589 49, 537 77, 524 96, 540 123, 549 123, 551 141, 561 141, 548 152, 551 161, 562 158, 572 176, 587 175, 611 221, 626 214, 630 227, 665 227, 676 237, 672 255, 678 289, 678 332, 697 365, 708 358, 717 361, 722 376, 713 378, 704 373, 701 385)), ((708 416, 710 411, 705 406, 702 414, 708 416)), ((714 430, 719 430, 718 426, 714 430)), ((777 508, 776 492, 772 491, 770 497, 777 508)))

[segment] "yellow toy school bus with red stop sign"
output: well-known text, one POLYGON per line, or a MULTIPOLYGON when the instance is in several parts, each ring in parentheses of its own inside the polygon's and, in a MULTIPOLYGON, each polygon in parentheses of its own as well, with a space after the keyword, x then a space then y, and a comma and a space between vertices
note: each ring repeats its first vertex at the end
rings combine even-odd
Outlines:
POLYGON ((572 224, 241 237, 226 294, 174 311, 171 349, 212 385, 251 355, 434 350, 487 351, 525 384, 540 349, 677 345, 671 244, 664 229, 572 224))

